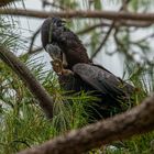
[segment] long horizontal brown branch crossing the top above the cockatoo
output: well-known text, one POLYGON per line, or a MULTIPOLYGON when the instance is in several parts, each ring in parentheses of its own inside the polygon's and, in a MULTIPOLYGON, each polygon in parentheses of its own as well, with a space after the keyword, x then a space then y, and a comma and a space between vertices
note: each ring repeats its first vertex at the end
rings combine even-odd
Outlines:
POLYGON ((116 12, 116 11, 59 11, 59 12, 42 12, 34 10, 22 9, 0 9, 0 14, 12 14, 32 18, 103 18, 108 20, 133 20, 133 21, 148 21, 154 22, 154 13, 131 13, 131 12, 116 12))

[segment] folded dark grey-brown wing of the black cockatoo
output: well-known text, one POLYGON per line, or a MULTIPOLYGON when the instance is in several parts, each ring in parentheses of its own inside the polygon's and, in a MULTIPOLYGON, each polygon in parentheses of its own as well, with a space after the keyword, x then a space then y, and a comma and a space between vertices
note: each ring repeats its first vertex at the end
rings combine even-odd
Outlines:
POLYGON ((76 64, 73 67, 73 70, 84 81, 101 94, 109 95, 111 97, 125 95, 122 90, 122 81, 113 74, 101 67, 80 63, 76 64))

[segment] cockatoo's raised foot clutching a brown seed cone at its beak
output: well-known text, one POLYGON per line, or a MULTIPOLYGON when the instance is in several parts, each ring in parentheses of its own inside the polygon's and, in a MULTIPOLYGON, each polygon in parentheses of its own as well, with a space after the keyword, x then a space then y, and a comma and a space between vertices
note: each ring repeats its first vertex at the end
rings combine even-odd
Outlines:
POLYGON ((52 61, 52 66, 53 66, 53 69, 54 72, 57 74, 57 75, 74 75, 74 73, 69 69, 65 69, 63 67, 63 62, 61 59, 54 59, 52 61))

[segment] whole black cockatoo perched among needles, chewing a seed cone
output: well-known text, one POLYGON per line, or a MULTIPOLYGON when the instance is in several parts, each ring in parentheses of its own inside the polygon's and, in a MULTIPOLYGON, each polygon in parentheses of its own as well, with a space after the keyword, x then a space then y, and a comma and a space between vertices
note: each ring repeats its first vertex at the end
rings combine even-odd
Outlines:
POLYGON ((48 18, 41 30, 42 44, 53 58, 53 68, 65 90, 92 91, 98 97, 92 117, 107 118, 123 111, 134 87, 106 68, 95 65, 78 36, 59 18, 48 18))

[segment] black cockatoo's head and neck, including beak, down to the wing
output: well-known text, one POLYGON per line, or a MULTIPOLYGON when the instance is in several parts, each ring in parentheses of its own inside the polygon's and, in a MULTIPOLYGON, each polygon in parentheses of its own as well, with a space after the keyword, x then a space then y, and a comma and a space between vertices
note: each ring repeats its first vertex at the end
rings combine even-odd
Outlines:
POLYGON ((72 69, 78 63, 91 63, 81 41, 65 26, 62 19, 46 19, 41 29, 41 36, 46 52, 52 58, 61 57, 58 59, 63 62, 65 68, 72 69))

